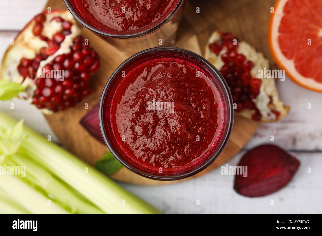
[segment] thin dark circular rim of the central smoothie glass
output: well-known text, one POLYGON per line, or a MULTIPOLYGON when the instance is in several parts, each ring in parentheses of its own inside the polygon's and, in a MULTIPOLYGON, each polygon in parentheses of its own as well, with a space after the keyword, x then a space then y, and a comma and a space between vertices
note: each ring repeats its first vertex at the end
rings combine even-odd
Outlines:
POLYGON ((234 121, 234 109, 233 109, 233 102, 232 102, 232 96, 231 93, 228 89, 228 85, 226 83, 226 81, 224 80, 223 76, 219 73, 219 71, 217 70, 216 67, 214 67, 208 60, 206 60, 204 57, 190 51, 184 48, 176 48, 176 47, 156 47, 156 48, 149 48, 146 50, 143 50, 141 52, 138 52, 136 54, 134 54, 133 56, 129 57, 128 59, 126 59, 124 62, 122 62, 116 69, 115 71, 110 75, 108 81, 106 82, 100 101, 99 101, 99 127, 104 139, 105 144, 108 146, 110 152, 113 154, 113 156, 123 165, 125 166, 128 170, 131 170, 132 172, 149 178, 149 179, 154 179, 154 180, 179 180, 179 179, 184 179, 190 176, 193 176, 195 174, 197 174, 198 172, 206 169, 208 166, 210 166, 218 157, 219 155, 223 152, 225 146, 228 143, 229 137, 232 133, 232 127, 233 127, 233 121, 234 121), (219 78, 219 81, 221 82, 223 88, 224 88, 224 94, 227 97, 227 101, 228 101, 228 109, 229 109, 229 113, 230 116, 228 118, 228 126, 226 128, 226 132, 225 132, 225 136, 223 137, 223 141, 222 141, 222 145, 218 146, 214 152, 211 154, 211 156, 208 158, 207 161, 205 161, 203 164, 197 166, 195 169, 189 170, 186 173, 182 173, 182 174, 178 174, 175 176, 161 176, 161 175, 153 175, 153 174, 149 174, 147 172, 144 172, 142 170, 139 170, 137 168, 135 168, 134 166, 130 165, 128 162, 125 162, 122 160, 122 158, 119 157, 118 153, 114 150, 113 146, 111 145, 111 143, 109 142, 109 139, 107 138, 107 134, 104 128, 104 122, 103 122, 103 103, 105 101, 105 96, 106 96, 106 91, 109 88, 110 83, 113 81, 113 79, 117 78, 115 77, 116 74, 118 74, 121 69, 128 64, 129 62, 131 62, 132 60, 136 59, 137 57, 143 56, 145 54, 151 53, 151 52, 157 52, 157 51, 173 51, 173 52, 180 52, 180 53, 186 53, 188 55, 194 56, 196 58, 198 58, 199 60, 201 60, 203 63, 205 63, 207 66, 210 67, 210 69, 213 70, 213 72, 217 75, 217 77, 219 78))

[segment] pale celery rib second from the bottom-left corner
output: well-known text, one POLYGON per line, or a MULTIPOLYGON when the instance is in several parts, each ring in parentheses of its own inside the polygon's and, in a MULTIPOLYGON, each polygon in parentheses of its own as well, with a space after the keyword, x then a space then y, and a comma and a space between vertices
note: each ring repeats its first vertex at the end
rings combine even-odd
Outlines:
POLYGON ((26 184, 20 176, 1 175, 0 188, 32 214, 68 214, 65 209, 26 184))

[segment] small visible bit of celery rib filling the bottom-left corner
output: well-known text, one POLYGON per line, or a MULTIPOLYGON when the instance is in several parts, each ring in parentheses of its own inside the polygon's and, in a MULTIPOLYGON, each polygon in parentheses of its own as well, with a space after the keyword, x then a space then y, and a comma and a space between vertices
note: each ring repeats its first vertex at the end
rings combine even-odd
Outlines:
POLYGON ((30 214, 30 212, 0 189, 0 214, 30 214))

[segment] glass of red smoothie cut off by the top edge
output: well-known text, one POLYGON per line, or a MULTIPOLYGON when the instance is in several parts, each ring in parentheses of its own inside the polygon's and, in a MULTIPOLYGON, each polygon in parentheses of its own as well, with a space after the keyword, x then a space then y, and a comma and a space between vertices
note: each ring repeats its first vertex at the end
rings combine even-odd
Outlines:
POLYGON ((87 29, 128 55, 175 43, 185 0, 64 0, 87 29), (162 44, 161 44, 162 40, 162 44))

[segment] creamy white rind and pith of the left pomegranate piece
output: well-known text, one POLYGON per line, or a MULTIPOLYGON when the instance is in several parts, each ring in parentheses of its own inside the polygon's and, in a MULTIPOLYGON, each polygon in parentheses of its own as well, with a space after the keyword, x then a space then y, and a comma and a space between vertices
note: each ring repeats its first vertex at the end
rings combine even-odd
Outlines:
MULTIPOLYGON (((51 21, 52 18, 60 16, 69 22, 72 22, 71 34, 67 35, 64 41, 61 43, 60 48, 51 56, 41 61, 38 70, 54 60, 55 57, 62 54, 68 54, 70 50, 70 45, 73 43, 73 39, 81 34, 81 29, 77 26, 76 20, 71 15, 71 13, 66 10, 53 10, 51 13, 43 12, 46 15, 46 21, 44 24, 50 24, 48 27, 44 27, 43 33, 49 39, 52 39, 52 35, 58 31, 61 31, 61 23, 51 21)), ((36 24, 35 17, 26 24, 26 26, 21 30, 14 39, 14 44, 10 45, 2 58, 1 70, 0 70, 0 80, 9 80, 14 83, 21 83, 26 87, 25 92, 19 94, 19 98, 27 100, 29 103, 32 102, 33 92, 37 89, 35 84, 36 78, 29 78, 28 76, 24 79, 18 72, 18 65, 21 58, 25 57, 27 59, 33 59, 37 53, 39 53, 40 48, 48 47, 48 43, 39 39, 33 35, 33 26, 36 24)), ((38 71, 37 70, 37 71, 38 71)), ((51 114, 52 111, 48 109, 40 109, 43 113, 51 114)))

